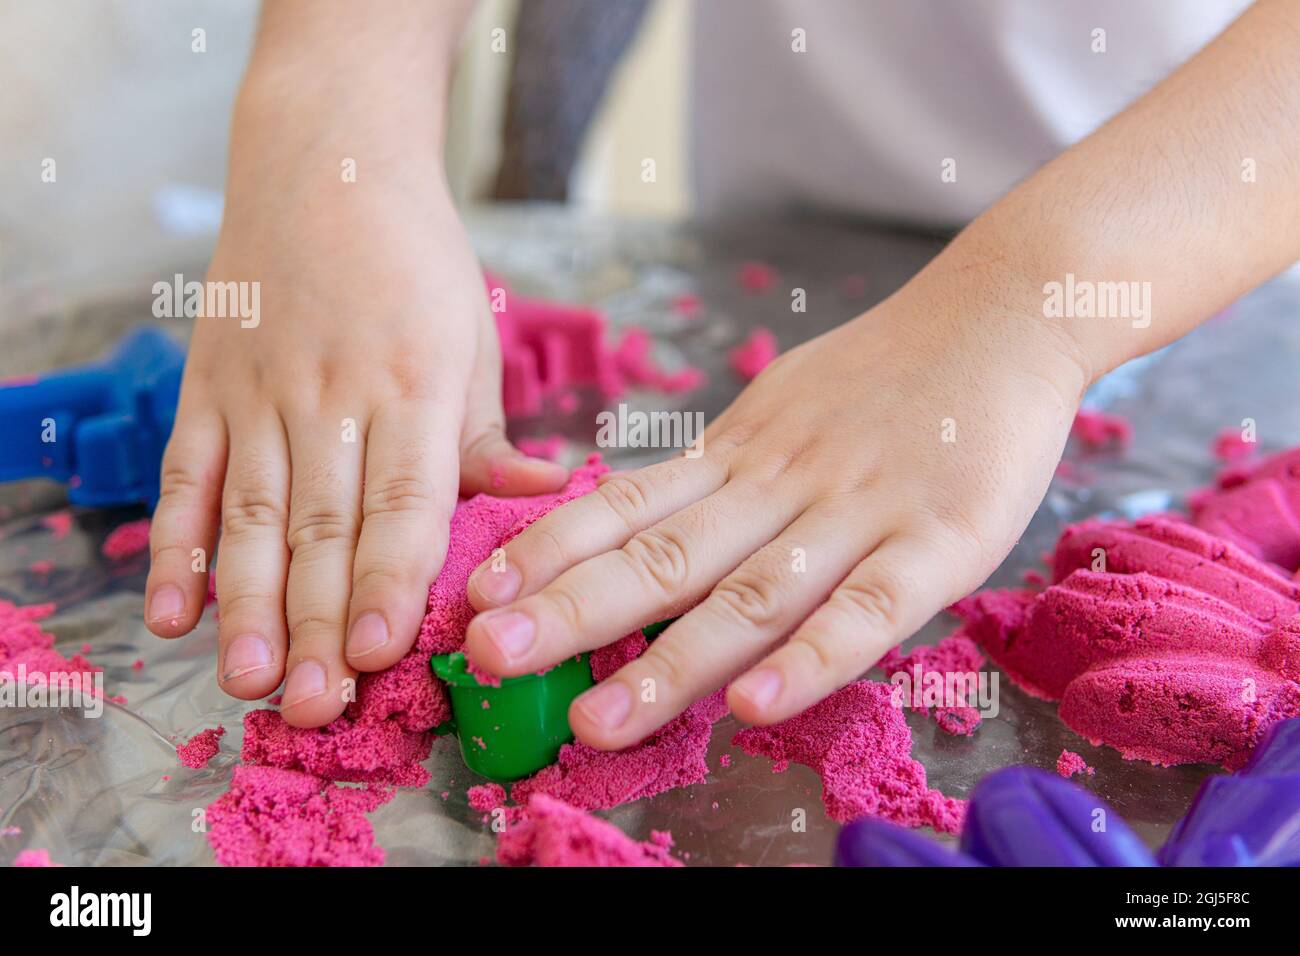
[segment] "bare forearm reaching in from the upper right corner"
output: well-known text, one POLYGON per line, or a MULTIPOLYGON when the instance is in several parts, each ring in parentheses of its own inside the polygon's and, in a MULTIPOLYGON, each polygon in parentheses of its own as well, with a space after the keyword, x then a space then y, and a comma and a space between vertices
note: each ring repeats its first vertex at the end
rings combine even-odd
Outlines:
POLYGON ((1300 3, 1261 0, 991 207, 918 281, 1065 341, 1091 378, 1297 259, 1300 3), (1046 315, 1048 284, 1067 274, 1139 294, 1149 284, 1149 313, 1046 315))

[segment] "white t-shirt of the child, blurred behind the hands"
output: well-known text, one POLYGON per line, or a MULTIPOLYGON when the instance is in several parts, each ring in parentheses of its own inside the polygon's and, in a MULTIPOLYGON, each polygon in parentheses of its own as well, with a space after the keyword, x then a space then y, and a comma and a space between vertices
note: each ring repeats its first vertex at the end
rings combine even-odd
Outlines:
POLYGON ((1249 0, 698 0, 697 208, 798 206, 965 222, 1158 83, 1247 7, 1249 0), (793 48, 796 30, 806 52, 793 48), (942 181, 945 168, 954 182, 942 181))

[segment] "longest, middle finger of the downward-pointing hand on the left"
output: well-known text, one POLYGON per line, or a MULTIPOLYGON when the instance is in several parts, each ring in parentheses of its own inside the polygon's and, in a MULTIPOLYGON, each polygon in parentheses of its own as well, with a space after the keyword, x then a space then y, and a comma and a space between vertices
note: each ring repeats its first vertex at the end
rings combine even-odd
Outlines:
POLYGON ((289 661, 280 713, 295 727, 321 727, 341 713, 356 671, 343 657, 352 559, 361 531, 368 423, 356 415, 294 412, 287 420, 289 661))

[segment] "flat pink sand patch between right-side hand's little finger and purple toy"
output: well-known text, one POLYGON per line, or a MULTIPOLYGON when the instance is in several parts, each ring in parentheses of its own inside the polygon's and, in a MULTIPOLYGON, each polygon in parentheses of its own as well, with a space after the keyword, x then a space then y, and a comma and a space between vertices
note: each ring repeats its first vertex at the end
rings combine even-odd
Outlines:
POLYGON ((872 816, 957 832, 966 801, 927 786, 890 691, 888 684, 858 680, 783 723, 748 727, 732 743, 749 754, 816 770, 827 816, 840 823, 872 816))

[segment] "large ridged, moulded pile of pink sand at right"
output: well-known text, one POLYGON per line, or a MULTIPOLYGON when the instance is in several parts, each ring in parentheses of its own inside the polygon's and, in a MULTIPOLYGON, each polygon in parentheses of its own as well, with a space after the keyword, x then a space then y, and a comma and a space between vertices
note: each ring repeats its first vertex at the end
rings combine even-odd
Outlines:
POLYGON ((1245 763, 1300 715, 1300 449, 1191 499, 1191 522, 1066 528, 1050 587, 956 606, 971 637, 1093 745, 1153 763, 1245 763))

